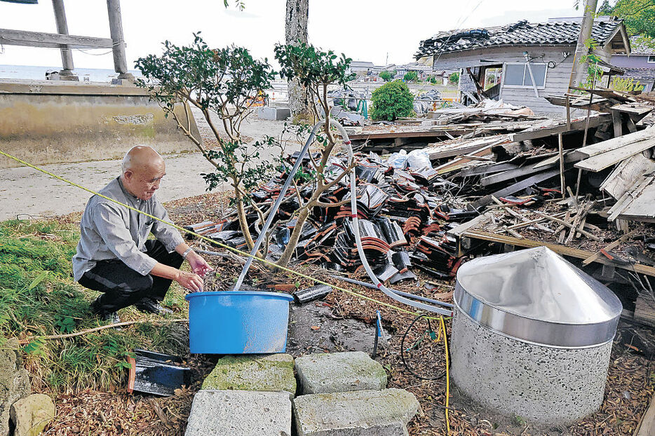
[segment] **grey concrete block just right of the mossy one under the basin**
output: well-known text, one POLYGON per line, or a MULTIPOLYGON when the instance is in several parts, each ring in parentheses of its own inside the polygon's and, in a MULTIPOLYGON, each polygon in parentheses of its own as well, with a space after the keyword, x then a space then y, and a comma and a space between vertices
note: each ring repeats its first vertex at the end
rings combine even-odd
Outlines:
POLYGON ((296 371, 302 395, 386 388, 382 365, 361 351, 304 355, 296 371))

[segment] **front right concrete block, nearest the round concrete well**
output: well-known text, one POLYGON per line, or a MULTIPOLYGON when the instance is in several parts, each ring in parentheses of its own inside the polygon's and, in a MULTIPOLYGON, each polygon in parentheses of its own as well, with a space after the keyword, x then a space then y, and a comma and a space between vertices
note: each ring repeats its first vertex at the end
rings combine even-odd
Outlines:
POLYGON ((418 409, 414 394, 402 389, 302 395, 293 400, 298 436, 407 435, 406 425, 418 409))

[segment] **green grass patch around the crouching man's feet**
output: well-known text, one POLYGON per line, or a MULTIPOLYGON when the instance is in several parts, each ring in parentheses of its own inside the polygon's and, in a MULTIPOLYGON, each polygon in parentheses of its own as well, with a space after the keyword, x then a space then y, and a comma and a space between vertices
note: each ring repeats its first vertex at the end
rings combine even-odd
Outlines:
MULTIPOLYGON (((134 348, 186 353, 185 325, 154 323, 162 317, 135 308, 120 311, 121 318, 145 322, 121 331, 39 339, 107 324, 89 309, 98 293, 73 281, 71 258, 78 240, 74 223, 0 222, 0 345, 10 337, 30 339, 22 350, 33 388, 53 393, 111 390, 125 385, 126 357, 134 348)), ((170 318, 187 318, 184 292, 177 283, 164 303, 177 312, 170 318)))

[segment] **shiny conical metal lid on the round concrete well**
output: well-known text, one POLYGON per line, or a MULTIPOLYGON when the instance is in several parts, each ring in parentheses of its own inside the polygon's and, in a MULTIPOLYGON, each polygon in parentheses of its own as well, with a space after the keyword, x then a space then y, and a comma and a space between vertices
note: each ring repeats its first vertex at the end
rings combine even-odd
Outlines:
POLYGON ((623 309, 614 292, 547 247, 466 262, 454 301, 500 334, 562 348, 611 341, 623 309))

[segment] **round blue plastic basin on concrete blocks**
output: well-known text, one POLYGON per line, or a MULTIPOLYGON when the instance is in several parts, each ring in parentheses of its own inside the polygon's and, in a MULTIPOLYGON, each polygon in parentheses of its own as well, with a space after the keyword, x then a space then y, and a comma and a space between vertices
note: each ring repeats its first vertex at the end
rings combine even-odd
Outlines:
POLYGON ((289 302, 276 292, 194 292, 189 301, 191 353, 284 353, 289 302))

